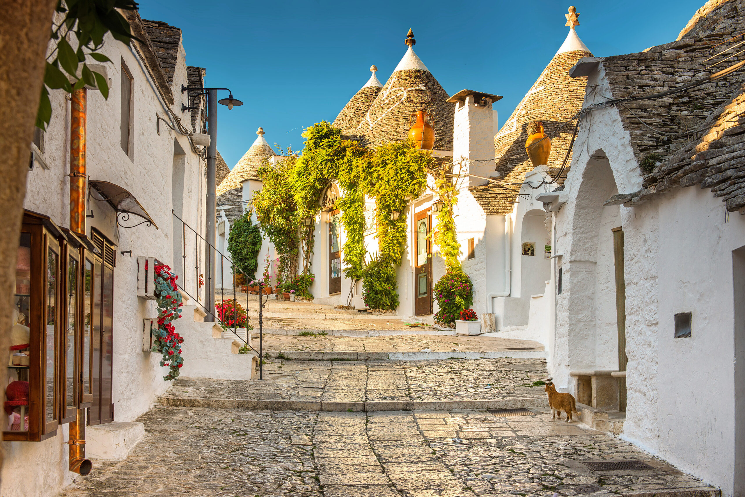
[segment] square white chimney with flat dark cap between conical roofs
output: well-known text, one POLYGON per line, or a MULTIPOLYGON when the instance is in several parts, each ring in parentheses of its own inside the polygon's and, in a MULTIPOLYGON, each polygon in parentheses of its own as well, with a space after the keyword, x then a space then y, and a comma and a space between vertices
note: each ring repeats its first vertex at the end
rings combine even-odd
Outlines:
MULTIPOLYGON (((448 99, 455 103, 453 129, 454 173, 488 178, 494 175, 495 114, 492 102, 501 97, 463 90, 448 99)), ((468 176, 463 186, 486 185, 486 179, 468 176)))

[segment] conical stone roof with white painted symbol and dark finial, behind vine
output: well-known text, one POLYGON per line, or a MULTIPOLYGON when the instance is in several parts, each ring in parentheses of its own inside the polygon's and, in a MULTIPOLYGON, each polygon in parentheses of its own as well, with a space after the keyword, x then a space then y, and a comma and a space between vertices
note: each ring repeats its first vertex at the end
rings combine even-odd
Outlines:
POLYGON ((411 30, 405 43, 406 54, 352 134, 363 137, 369 147, 402 141, 408 136, 409 122, 413 124, 410 116, 425 110, 434 116, 434 150, 451 151, 455 104, 446 102, 447 92, 416 57, 411 30))

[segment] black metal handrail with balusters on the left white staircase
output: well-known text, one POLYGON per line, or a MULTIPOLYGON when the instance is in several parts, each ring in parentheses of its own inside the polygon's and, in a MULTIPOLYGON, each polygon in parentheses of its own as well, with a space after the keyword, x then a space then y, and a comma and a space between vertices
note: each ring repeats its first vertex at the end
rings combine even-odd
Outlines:
MULTIPOLYGON (((223 305, 225 303, 225 286, 224 286, 224 283, 225 283, 225 278, 224 278, 224 275, 225 275, 225 272, 224 272, 224 263, 225 263, 225 261, 227 260, 227 262, 230 264, 231 269, 232 269, 232 274, 234 275, 234 278, 235 278, 235 274, 236 274, 235 272, 238 271, 242 275, 244 275, 244 278, 246 278, 246 283, 248 283, 248 280, 249 280, 248 275, 246 274, 246 272, 243 271, 243 269, 241 269, 240 267, 238 267, 237 264, 233 263, 232 260, 230 260, 229 257, 227 257, 225 254, 223 254, 221 251, 219 251, 217 248, 215 248, 215 246, 212 245, 212 243, 209 243, 209 241, 207 241, 205 237, 203 237, 196 230, 194 230, 194 228, 191 228, 191 226, 189 226, 188 224, 186 224, 186 222, 183 219, 181 219, 180 217, 178 217, 177 214, 173 210, 171 210, 171 214, 173 214, 173 216, 176 219, 178 219, 181 222, 181 224, 182 224, 182 243, 183 243, 183 251, 182 251, 182 254, 183 254, 183 256, 182 256, 182 258, 183 258, 183 269, 182 269, 182 271, 184 272, 185 275, 186 275, 186 228, 189 228, 194 233, 194 264, 195 264, 194 265, 194 271, 195 271, 194 277, 195 277, 195 282, 196 282, 196 287, 197 287, 197 291, 194 292, 194 293, 197 294, 197 297, 195 298, 193 295, 191 295, 182 284, 178 283, 178 280, 177 280, 177 286, 184 293, 186 293, 186 295, 188 295, 189 298, 191 298, 192 300, 194 300, 194 302, 199 307, 201 307, 204 310, 204 312, 209 313, 209 315, 212 316, 212 318, 213 318, 214 321, 218 321, 221 324, 221 327, 223 327, 223 330, 230 330, 230 332, 233 333, 233 335, 237 336, 238 339, 241 339, 241 342, 244 342, 244 344, 246 344, 254 352, 256 352, 256 353, 259 354, 259 379, 264 379, 264 367, 263 367, 264 366, 263 365, 263 362, 264 362, 263 361, 263 355, 264 355, 264 330, 263 330, 264 326, 263 326, 263 324, 264 323, 263 323, 263 319, 262 319, 262 317, 263 317, 262 314, 263 313, 261 312, 261 310, 263 310, 264 307, 265 307, 265 305, 266 305, 266 301, 264 301, 264 291, 263 291, 264 286, 260 286, 261 292, 259 292, 259 350, 256 350, 256 348, 254 348, 251 344, 249 344, 247 342, 247 339, 248 339, 248 329, 246 330, 246 333, 247 333, 246 339, 243 339, 242 336, 238 335, 238 333, 237 333, 237 331, 238 331, 238 320, 237 319, 234 319, 233 320, 233 326, 232 326, 232 329, 231 329, 231 327, 229 327, 229 325, 227 325, 225 322, 223 322, 222 319, 218 315, 215 315, 215 312, 213 312, 214 310, 207 309, 204 306, 204 304, 201 304, 200 303, 199 298, 198 298, 199 297, 199 288, 200 288, 200 284, 199 284, 199 277, 200 277, 200 272, 199 272, 199 268, 200 268, 200 265, 199 265, 199 263, 200 263, 199 245, 200 245, 200 239, 205 244, 205 249, 206 249, 205 250, 205 254, 209 254, 211 256, 212 255, 212 250, 214 250, 215 253, 217 253, 217 254, 220 255, 220 274, 221 274, 221 277, 220 277, 220 304, 221 304, 221 307, 223 307, 223 305)), ((210 266, 211 266, 211 262, 212 261, 210 259, 212 259, 212 257, 209 257, 208 256, 207 257, 207 261, 206 261, 206 264, 207 264, 207 274, 208 275, 211 274, 211 272, 209 271, 209 269, 210 269, 210 266)), ((209 278, 211 278, 211 276, 209 278)), ((184 278, 184 282, 183 283, 186 285, 186 277, 184 278)), ((210 285, 207 285, 206 286, 206 289, 209 289, 211 286, 212 286, 211 284, 210 285)), ((232 286, 233 286, 233 298, 232 298, 232 300, 233 300, 233 303, 234 303, 233 304, 233 314, 235 315, 235 304, 238 304, 238 295, 237 295, 238 292, 236 292, 236 290, 235 290, 235 280, 233 280, 233 285, 232 286)), ((246 292, 246 321, 247 321, 246 324, 248 324, 248 319, 249 319, 248 318, 248 295, 249 295, 248 292, 246 292)), ((269 300, 269 296, 267 295, 267 301, 268 300, 269 300)))

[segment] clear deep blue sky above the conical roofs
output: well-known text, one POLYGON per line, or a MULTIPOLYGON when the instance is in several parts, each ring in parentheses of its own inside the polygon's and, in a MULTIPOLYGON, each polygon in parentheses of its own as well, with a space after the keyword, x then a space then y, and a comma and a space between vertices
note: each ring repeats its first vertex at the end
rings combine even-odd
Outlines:
MULTIPOLYGON (((704 0, 594 0, 576 3, 582 41, 597 57, 671 42, 704 0)), ((378 66, 385 83, 414 50, 448 92, 502 95, 510 117, 565 39, 568 1, 239 1, 142 0, 144 19, 183 31, 188 65, 206 85, 244 101, 218 106, 218 150, 229 167, 256 139, 302 148, 302 129, 338 112, 378 66)), ((221 94, 221 98, 226 95, 221 94)))

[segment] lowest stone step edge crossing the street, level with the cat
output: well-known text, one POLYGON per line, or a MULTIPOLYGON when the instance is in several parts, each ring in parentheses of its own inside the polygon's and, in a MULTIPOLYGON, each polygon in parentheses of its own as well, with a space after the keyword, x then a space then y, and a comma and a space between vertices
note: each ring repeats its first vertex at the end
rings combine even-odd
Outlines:
POLYGON ((450 411, 452 409, 517 409, 548 407, 546 397, 485 400, 259 400, 197 399, 193 397, 159 397, 168 407, 208 407, 216 409, 251 409, 268 411, 450 411))

